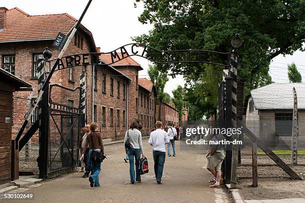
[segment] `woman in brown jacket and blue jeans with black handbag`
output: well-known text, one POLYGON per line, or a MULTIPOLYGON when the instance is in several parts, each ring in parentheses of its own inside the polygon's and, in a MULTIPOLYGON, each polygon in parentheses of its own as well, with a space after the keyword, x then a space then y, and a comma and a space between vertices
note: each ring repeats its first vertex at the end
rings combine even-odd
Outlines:
MULTIPOLYGON (((91 156, 91 153, 94 151, 102 152, 103 157, 105 157, 104 152, 104 144, 102 135, 99 131, 97 131, 98 124, 96 122, 93 122, 90 124, 90 132, 87 135, 87 141, 86 144, 89 143, 89 157, 91 156)), ((101 172, 101 163, 94 162, 90 160, 92 172, 91 176, 89 177, 89 182, 91 188, 94 187, 100 187, 100 180, 99 180, 99 174, 101 172)))

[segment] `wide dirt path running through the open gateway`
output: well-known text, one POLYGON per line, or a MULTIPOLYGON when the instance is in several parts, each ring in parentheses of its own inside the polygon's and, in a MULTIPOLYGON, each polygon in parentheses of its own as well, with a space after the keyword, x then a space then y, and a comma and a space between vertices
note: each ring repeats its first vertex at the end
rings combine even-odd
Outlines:
POLYGON ((217 203, 228 202, 222 189, 208 188, 211 175, 206 171, 205 152, 180 151, 176 142, 176 157, 167 157, 162 184, 156 184, 153 173, 151 146, 144 140, 145 154, 149 159, 149 174, 142 176, 142 183, 124 184, 130 181, 129 163, 123 160, 124 145, 105 146, 107 160, 100 174, 100 188, 90 188, 82 173, 72 173, 23 189, 33 193, 30 203, 217 203))

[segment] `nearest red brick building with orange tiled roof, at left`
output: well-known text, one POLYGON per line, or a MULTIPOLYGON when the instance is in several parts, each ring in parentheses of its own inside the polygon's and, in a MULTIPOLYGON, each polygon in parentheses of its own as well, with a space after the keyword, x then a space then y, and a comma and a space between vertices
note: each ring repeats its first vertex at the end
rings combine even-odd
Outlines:
MULTIPOLYGON (((20 129, 31 100, 38 95, 37 60, 42 58, 45 47, 52 52, 52 58, 56 58, 60 50, 52 47, 54 38, 58 32, 66 34, 76 21, 67 13, 29 15, 19 8, 0 7, 0 68, 31 84, 34 90, 33 92, 14 93, 12 137, 20 129)), ((65 55, 88 52, 96 52, 95 43, 92 33, 81 25, 65 55)), ((86 71, 90 72, 90 69, 92 69, 90 66, 86 67, 86 71)), ((74 89, 79 87, 81 71, 81 67, 57 71, 52 76, 51 83, 74 89)), ((90 84, 87 86, 89 92, 90 84)), ((69 101, 71 104, 70 99, 73 98, 64 97, 62 99, 66 104, 69 104, 69 101)), ((35 121, 37 111, 33 113, 32 118, 32 121, 35 121)), ((32 137, 32 141, 36 142, 37 139, 37 136, 32 137)))

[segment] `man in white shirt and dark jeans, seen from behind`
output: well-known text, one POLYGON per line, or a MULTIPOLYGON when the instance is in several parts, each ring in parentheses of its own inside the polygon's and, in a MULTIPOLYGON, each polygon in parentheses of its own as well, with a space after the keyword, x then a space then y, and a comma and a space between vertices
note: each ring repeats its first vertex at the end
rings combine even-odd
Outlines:
POLYGON ((154 174, 158 184, 161 184, 163 166, 165 163, 165 144, 169 142, 168 135, 162 130, 162 122, 155 123, 156 130, 151 132, 149 144, 152 145, 154 174))

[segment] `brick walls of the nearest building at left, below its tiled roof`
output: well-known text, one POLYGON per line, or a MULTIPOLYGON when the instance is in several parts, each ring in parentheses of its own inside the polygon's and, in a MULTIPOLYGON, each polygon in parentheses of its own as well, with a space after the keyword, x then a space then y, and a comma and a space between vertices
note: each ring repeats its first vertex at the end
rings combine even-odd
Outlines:
MULTIPOLYGON (((78 33, 82 35, 81 33, 78 33)), ((3 56, 5 55, 15 55, 15 76, 21 78, 22 80, 30 83, 33 88, 33 97, 36 98, 38 95, 38 82, 37 78, 33 78, 33 64, 34 64, 34 54, 42 54, 45 47, 48 47, 52 52, 52 59, 55 59, 60 50, 52 47, 53 41, 36 41, 36 42, 20 42, 20 43, 5 43, 1 44, 0 47, 0 67, 3 67, 3 56)), ((77 53, 88 53, 90 52, 89 44, 86 39, 84 39, 83 49, 78 48, 74 45, 74 38, 72 39, 70 45, 68 46, 66 55, 72 55, 77 53)), ((61 71, 56 71, 51 79, 51 84, 59 84, 71 89, 79 87, 79 76, 81 73, 82 67, 75 67, 73 69, 73 81, 68 81, 69 69, 64 69, 61 71)), ((87 67, 88 69, 88 67, 87 67)), ((47 68, 48 70, 48 68, 47 68)), ((16 92, 14 97, 19 98, 28 98, 31 95, 31 92, 16 92)), ((57 101, 61 98, 61 102, 67 104, 68 100, 73 100, 67 95, 62 95, 61 92, 56 94, 57 101)), ((55 97, 54 97, 55 99, 55 97)), ((13 122, 12 122, 12 138, 18 133, 23 121, 24 115, 26 112, 26 100, 14 98, 13 102, 13 122)), ((29 126, 28 126, 29 127, 29 126)), ((31 141, 38 142, 38 132, 35 136, 31 138, 31 141)))

